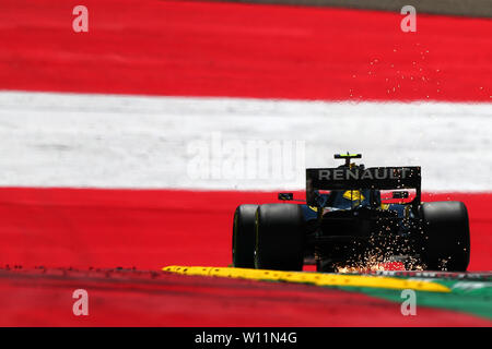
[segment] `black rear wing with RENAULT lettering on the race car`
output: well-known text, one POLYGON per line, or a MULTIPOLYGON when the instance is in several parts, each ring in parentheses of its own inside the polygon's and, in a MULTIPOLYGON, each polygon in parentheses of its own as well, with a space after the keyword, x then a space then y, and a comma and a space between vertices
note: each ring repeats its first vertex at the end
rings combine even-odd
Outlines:
POLYGON ((359 167, 306 169, 306 202, 317 206, 316 190, 415 189, 420 204, 420 167, 359 167))

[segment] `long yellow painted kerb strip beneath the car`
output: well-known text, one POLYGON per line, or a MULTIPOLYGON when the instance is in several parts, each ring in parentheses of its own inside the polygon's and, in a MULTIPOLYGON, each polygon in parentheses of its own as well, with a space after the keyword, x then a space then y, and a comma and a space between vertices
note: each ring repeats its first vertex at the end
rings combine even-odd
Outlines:
POLYGON ((340 275, 303 272, 277 272, 263 269, 246 269, 231 267, 211 267, 211 266, 166 266, 164 272, 196 275, 196 276, 218 276, 230 278, 242 278, 251 280, 270 280, 297 284, 313 284, 317 286, 345 286, 345 287, 374 287, 395 290, 412 289, 415 291, 427 292, 450 292, 450 289, 444 285, 426 281, 400 279, 388 276, 373 275, 340 275))

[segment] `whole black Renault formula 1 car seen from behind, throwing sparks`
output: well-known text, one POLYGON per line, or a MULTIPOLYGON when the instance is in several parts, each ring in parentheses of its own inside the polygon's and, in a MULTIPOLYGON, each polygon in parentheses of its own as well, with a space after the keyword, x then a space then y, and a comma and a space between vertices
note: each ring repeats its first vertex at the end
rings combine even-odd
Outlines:
MULTIPOLYGON (((421 202, 420 167, 351 163, 306 169, 298 204, 239 205, 233 224, 233 266, 318 272, 402 263, 406 269, 465 272, 470 258, 468 213, 461 202, 421 202)), ((279 193, 294 201, 292 193, 279 193)))

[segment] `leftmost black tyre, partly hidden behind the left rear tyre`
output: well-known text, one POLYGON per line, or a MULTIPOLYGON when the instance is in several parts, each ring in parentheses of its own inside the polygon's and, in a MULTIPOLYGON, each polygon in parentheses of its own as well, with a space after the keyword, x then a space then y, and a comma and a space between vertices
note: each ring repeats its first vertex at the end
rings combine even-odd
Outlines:
POLYGON ((233 266, 254 268, 255 218, 258 205, 241 205, 234 213, 233 224, 233 266))

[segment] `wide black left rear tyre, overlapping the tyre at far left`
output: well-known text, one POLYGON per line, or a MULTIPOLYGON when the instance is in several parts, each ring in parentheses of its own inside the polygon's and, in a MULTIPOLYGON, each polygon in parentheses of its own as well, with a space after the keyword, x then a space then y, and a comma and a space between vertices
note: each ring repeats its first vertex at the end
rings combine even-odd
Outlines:
POLYGON ((267 204, 256 213, 255 267, 302 270, 304 219, 300 205, 267 204))

